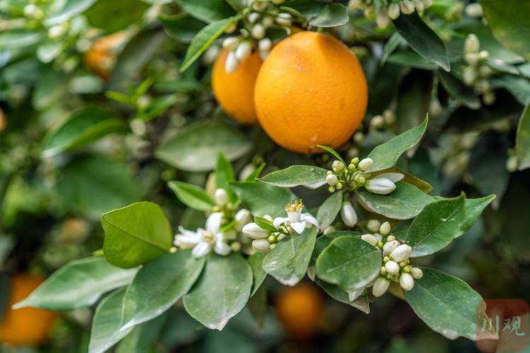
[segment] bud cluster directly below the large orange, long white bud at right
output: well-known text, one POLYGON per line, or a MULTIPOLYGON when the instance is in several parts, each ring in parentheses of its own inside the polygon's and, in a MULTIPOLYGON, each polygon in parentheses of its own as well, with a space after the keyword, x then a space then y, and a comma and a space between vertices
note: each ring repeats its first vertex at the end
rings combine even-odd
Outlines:
POLYGON ((401 173, 382 173, 372 175, 367 170, 372 167, 372 158, 359 160, 355 157, 346 166, 342 161, 335 160, 331 164, 331 170, 327 172, 326 182, 329 184, 329 192, 346 189, 353 191, 365 187, 371 193, 386 195, 396 189, 396 182, 404 178, 401 173))

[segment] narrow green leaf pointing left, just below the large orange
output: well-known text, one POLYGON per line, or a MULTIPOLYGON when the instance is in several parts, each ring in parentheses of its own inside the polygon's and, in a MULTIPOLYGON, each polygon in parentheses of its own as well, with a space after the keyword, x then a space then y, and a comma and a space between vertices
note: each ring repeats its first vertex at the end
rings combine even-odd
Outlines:
POLYGON ((326 184, 327 172, 327 169, 312 165, 292 165, 269 173, 259 181, 284 188, 302 185, 308 189, 317 189, 326 184))

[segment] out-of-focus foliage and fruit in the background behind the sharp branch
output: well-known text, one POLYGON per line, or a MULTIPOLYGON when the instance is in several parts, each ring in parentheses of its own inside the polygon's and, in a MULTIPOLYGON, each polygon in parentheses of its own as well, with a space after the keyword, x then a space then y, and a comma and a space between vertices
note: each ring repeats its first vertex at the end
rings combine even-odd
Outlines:
MULTIPOLYGON (((506 3, 517 10, 513 3, 524 1, 506 3)), ((283 150, 259 127, 225 116, 209 88, 219 43, 179 72, 189 42, 208 20, 190 16, 189 4, 0 1, 0 317, 16 277, 47 277, 98 251, 100 215, 107 210, 151 200, 163 205, 173 227, 204 224, 204 215, 186 210, 166 181, 206 184, 219 150, 241 179, 262 162, 267 172, 331 162, 326 155, 283 150)), ((488 21, 477 5, 435 0, 425 11, 425 22, 447 45, 450 73, 411 50, 393 26, 377 28, 375 16, 363 11, 351 9, 346 25, 330 29, 358 55, 370 88, 362 131, 341 151, 365 155, 428 112, 428 136, 400 167, 429 181, 435 194, 464 190, 469 197, 497 198, 470 234, 420 265, 461 277, 485 299, 529 301, 530 169, 517 171, 514 145, 519 116, 530 102, 530 64, 517 45, 506 44, 528 46, 529 37, 510 37, 505 30, 501 44, 486 24, 498 24, 496 5, 485 6, 492 11, 488 21), (495 69, 495 95, 488 102, 462 81, 469 33, 477 35, 495 69)), ((530 20, 524 21, 528 31, 530 20)), ((297 192, 303 198, 305 191, 297 192)), ((304 198, 308 207, 322 203, 326 193, 317 194, 304 198)), ((266 313, 254 312, 257 318, 245 309, 222 332, 209 331, 177 305, 145 332, 135 330, 117 352, 476 351, 474 342, 432 332, 391 296, 366 316, 308 280, 286 288, 268 279, 266 287, 268 296, 253 299, 269 304, 266 313)), ((88 309, 64 313, 38 345, 0 350, 86 352, 92 315, 88 309)), ((34 323, 25 325, 31 330, 34 323)))

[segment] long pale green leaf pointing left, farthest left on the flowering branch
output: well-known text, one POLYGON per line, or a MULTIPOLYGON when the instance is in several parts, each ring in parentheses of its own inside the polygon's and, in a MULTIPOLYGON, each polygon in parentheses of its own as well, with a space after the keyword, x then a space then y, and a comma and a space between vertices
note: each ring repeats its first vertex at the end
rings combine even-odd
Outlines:
POLYGON ((74 260, 59 268, 14 307, 66 311, 91 306, 102 294, 128 285, 135 273, 136 269, 114 267, 105 258, 74 260))

